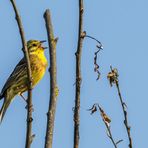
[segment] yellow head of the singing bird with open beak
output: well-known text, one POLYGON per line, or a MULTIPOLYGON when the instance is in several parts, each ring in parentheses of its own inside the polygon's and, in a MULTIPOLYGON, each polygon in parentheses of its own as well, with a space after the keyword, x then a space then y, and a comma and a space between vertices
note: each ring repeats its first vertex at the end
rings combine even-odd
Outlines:
POLYGON ((36 52, 44 52, 44 49, 47 47, 42 46, 42 43, 46 42, 45 40, 43 41, 38 41, 38 40, 29 40, 27 42, 27 48, 29 53, 36 53, 36 52))

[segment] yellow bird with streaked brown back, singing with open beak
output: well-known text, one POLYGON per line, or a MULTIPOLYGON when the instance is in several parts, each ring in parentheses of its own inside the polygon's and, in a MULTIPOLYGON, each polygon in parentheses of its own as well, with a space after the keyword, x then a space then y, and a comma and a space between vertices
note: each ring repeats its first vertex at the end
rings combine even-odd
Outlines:
MULTIPOLYGON (((29 53, 31 73, 32 73, 32 86, 34 87, 44 76, 47 67, 47 60, 44 55, 42 43, 45 41, 29 40, 27 42, 27 49, 29 53)), ((5 112, 16 95, 21 95, 28 90, 28 75, 27 75, 27 62, 23 57, 16 65, 15 69, 6 81, 0 99, 4 98, 3 105, 0 110, 0 122, 5 115, 5 112)))

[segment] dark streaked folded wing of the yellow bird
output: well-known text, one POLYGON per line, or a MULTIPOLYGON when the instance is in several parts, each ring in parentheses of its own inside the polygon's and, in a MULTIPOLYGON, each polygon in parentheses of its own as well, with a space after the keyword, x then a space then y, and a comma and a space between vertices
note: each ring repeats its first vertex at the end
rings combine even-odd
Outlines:
POLYGON ((8 80, 6 81, 0 97, 2 98, 4 95, 4 92, 11 86, 13 85, 15 82, 17 82, 18 78, 20 78, 24 72, 26 73, 26 60, 25 58, 23 58, 14 68, 13 72, 11 73, 11 75, 9 76, 8 80))

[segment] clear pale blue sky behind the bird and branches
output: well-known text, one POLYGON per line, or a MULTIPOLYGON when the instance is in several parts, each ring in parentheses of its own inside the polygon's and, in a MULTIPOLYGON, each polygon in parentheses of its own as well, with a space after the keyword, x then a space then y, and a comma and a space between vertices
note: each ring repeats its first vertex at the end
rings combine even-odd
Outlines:
MULTIPOLYGON (((73 147, 73 112, 75 99, 75 51, 77 47, 78 1, 16 0, 21 14, 26 39, 47 39, 43 13, 52 14, 57 44, 58 87, 60 89, 53 148, 73 147)), ((101 79, 96 81, 93 58, 96 43, 85 39, 82 55, 82 89, 80 148, 113 147, 106 135, 98 113, 91 116, 86 109, 98 102, 112 119, 111 128, 116 140, 124 139, 119 148, 127 147, 123 115, 115 87, 110 88, 107 73, 110 65, 118 68, 122 96, 128 106, 129 124, 134 148, 147 147, 146 117, 148 94, 148 2, 146 0, 84 1, 84 30, 104 46, 99 55, 101 79)), ((22 58, 22 45, 10 1, 0 5, 0 88, 22 58)), ((46 57, 49 57, 48 50, 46 57)), ((48 58, 49 59, 49 58, 48 58)), ((44 147, 46 112, 49 102, 49 73, 33 90, 32 148, 44 147)), ((0 102, 2 104, 2 101, 0 102)), ((26 134, 25 103, 16 97, 0 125, 0 147, 24 147, 26 134)))

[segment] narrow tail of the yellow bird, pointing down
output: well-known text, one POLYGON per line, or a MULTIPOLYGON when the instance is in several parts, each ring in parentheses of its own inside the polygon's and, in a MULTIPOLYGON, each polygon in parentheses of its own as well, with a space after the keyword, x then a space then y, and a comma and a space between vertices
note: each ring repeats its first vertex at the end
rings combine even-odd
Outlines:
POLYGON ((8 106, 10 105, 10 103, 11 103, 11 100, 10 99, 9 100, 8 99, 5 99, 4 100, 4 103, 3 103, 2 108, 0 110, 0 123, 3 120, 4 115, 6 113, 6 110, 7 110, 8 106))

